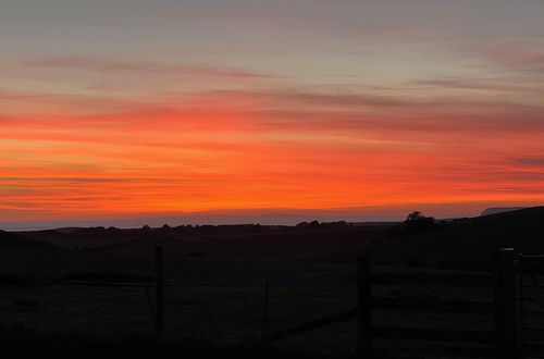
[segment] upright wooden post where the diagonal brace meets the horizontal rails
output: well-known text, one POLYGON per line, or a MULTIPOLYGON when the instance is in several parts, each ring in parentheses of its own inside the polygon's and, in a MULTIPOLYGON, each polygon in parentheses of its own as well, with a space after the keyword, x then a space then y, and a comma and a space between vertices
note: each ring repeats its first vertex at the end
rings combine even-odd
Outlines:
POLYGON ((357 257, 357 357, 371 357, 372 308, 370 292, 370 264, 367 257, 357 257))

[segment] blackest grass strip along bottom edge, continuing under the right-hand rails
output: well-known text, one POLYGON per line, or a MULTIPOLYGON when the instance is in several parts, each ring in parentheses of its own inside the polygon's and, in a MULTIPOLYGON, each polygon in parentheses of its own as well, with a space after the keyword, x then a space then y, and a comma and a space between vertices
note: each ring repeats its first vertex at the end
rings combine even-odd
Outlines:
MULTIPOLYGON (((149 336, 41 331, 25 326, 0 330, 2 354, 9 358, 239 358, 239 359, 355 359, 353 351, 304 352, 286 348, 243 344, 218 344, 191 336, 156 339, 149 336)), ((460 359, 489 357, 485 348, 433 346, 422 354, 421 344, 374 350, 373 359, 460 359), (445 355, 444 352, 448 352, 445 355)))

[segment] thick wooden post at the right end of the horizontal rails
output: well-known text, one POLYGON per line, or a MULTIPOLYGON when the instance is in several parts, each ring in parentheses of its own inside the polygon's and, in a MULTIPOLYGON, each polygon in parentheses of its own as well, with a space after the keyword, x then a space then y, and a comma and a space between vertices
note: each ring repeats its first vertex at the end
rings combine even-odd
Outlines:
POLYGON ((521 332, 516 250, 502 248, 497 267, 497 349, 503 359, 518 359, 521 351, 521 332))

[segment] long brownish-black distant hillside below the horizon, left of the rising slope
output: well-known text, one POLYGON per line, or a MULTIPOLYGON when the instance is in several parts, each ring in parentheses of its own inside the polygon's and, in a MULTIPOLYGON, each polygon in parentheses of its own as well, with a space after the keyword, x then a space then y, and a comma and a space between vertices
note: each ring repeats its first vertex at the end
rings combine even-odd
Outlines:
POLYGON ((66 249, 123 257, 149 256, 154 245, 181 258, 354 260, 356 252, 380 240, 393 224, 351 226, 345 222, 301 223, 297 226, 200 225, 177 227, 78 228, 36 231, 24 235, 66 249), (343 255, 337 256, 341 251, 343 255))

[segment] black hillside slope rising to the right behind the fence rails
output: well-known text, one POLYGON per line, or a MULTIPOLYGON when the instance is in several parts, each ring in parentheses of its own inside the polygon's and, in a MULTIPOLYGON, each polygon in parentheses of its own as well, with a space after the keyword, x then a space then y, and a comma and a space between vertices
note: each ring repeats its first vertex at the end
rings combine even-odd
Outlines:
POLYGON ((544 253, 544 207, 455 220, 368 248, 375 263, 489 268, 502 247, 544 253))

